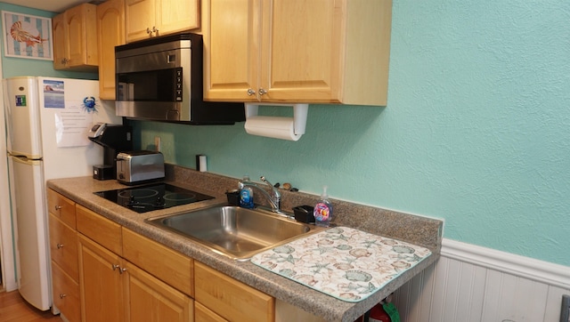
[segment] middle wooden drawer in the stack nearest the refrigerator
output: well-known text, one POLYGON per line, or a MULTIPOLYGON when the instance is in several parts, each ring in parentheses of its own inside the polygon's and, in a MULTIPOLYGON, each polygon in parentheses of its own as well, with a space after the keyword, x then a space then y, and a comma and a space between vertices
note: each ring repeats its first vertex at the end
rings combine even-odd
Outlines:
POLYGON ((50 213, 50 254, 62 270, 76 282, 79 280, 77 267, 77 232, 50 213))

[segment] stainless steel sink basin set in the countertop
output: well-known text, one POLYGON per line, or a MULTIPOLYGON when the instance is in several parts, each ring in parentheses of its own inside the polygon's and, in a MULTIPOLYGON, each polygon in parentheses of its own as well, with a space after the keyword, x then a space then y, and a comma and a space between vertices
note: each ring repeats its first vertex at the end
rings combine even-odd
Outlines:
POLYGON ((232 205, 214 205, 146 221, 241 261, 315 229, 275 213, 232 205))

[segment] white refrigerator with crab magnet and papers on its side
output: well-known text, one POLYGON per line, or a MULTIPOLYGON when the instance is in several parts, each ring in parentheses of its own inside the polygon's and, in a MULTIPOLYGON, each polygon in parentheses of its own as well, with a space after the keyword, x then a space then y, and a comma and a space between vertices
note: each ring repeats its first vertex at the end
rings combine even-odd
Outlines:
MULTIPOLYGON (((97 122, 121 124, 97 81, 12 77, 3 81, 6 149, 17 286, 39 310, 52 306, 45 181, 93 175, 102 147, 87 139, 97 122)), ((0 196, 0 199, 5 198, 0 196)), ((6 254, 4 254, 5 256, 6 254)))

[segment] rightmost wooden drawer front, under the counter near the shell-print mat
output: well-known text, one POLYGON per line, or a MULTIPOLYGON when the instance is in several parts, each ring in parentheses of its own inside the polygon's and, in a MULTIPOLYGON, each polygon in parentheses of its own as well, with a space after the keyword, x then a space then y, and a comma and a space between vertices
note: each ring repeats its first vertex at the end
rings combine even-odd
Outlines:
POLYGON ((232 321, 273 321, 275 300, 208 266, 194 263, 195 300, 232 321))

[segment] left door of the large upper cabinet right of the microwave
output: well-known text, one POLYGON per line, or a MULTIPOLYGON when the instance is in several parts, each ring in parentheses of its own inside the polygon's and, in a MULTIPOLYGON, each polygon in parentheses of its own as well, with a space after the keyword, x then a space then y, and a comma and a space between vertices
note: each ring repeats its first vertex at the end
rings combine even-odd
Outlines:
POLYGON ((207 0, 202 5, 205 99, 257 101, 260 2, 207 0))

